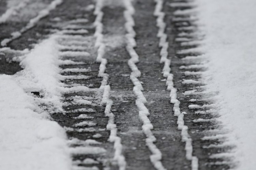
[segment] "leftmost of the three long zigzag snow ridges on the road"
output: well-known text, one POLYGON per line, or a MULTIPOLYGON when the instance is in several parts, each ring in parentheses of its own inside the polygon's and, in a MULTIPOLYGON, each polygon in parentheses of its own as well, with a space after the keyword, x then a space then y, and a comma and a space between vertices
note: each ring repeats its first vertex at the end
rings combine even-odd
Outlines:
POLYGON ((105 116, 109 118, 107 123, 107 130, 110 130, 109 141, 114 142, 115 154, 114 154, 113 160, 117 161, 119 170, 125 170, 126 161, 125 161, 124 155, 122 155, 123 146, 121 144, 121 138, 116 135, 117 128, 116 128, 116 124, 114 123, 115 115, 111 112, 113 101, 109 99, 110 86, 107 85, 109 75, 107 73, 104 73, 106 70, 107 59, 103 58, 104 50, 105 50, 105 45, 102 42, 103 40, 102 17, 104 15, 104 13, 102 12, 103 1, 104 0, 97 0, 95 10, 94 10, 94 15, 96 15, 96 19, 94 21, 94 26, 96 27, 95 33, 94 33, 94 36, 96 36, 95 47, 98 48, 96 61, 101 63, 99 66, 98 76, 103 78, 100 89, 104 89, 102 104, 106 104, 104 113, 105 113, 105 116))

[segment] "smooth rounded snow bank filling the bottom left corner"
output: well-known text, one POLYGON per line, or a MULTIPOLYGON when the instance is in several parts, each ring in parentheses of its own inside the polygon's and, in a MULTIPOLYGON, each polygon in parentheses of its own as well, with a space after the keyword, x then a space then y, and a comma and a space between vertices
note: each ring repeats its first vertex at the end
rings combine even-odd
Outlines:
POLYGON ((0 75, 0 169, 71 169, 65 130, 35 109, 12 76, 0 75))

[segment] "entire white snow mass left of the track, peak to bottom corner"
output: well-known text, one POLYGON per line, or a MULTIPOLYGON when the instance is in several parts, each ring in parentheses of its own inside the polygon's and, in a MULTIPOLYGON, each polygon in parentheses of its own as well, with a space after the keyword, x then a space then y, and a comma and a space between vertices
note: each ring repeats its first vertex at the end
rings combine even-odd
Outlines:
POLYGON ((65 130, 49 115, 62 110, 55 41, 51 36, 22 56, 24 70, 0 75, 0 169, 71 169, 65 130))

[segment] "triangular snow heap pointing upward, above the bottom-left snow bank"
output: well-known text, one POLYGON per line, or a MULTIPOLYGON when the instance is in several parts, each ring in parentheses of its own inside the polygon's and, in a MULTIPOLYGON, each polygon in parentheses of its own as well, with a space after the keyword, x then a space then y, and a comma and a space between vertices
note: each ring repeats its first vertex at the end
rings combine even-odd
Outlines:
POLYGON ((50 112, 62 111, 60 99, 63 84, 59 82, 61 77, 55 38, 51 36, 36 45, 21 61, 24 70, 14 75, 23 89, 39 91, 44 96, 41 102, 52 106, 50 112))

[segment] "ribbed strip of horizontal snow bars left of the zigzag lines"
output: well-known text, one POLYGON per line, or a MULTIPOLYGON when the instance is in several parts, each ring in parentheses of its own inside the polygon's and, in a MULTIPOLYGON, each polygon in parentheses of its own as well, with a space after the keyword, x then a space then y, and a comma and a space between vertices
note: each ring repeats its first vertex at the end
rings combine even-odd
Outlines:
MULTIPOLYGON (((96 17, 97 21, 100 20, 96 17)), ((95 63, 93 54, 96 54, 97 49, 88 45, 100 41, 97 34, 101 32, 96 22, 95 37, 92 31, 86 29, 94 29, 93 23, 88 22, 87 18, 71 20, 64 30, 56 33, 61 47, 60 58, 64 64, 62 79, 66 88, 63 94, 64 112, 52 117, 67 131, 73 169, 113 168, 115 165, 112 165, 111 160, 118 154, 118 148, 114 150, 113 145, 107 142, 109 136, 110 142, 116 141, 113 117, 107 115, 110 114, 107 112, 109 102, 111 104, 107 95, 109 86, 104 84, 104 77, 102 80, 102 62, 95 63)), ((115 142, 116 146, 118 141, 115 142)))

